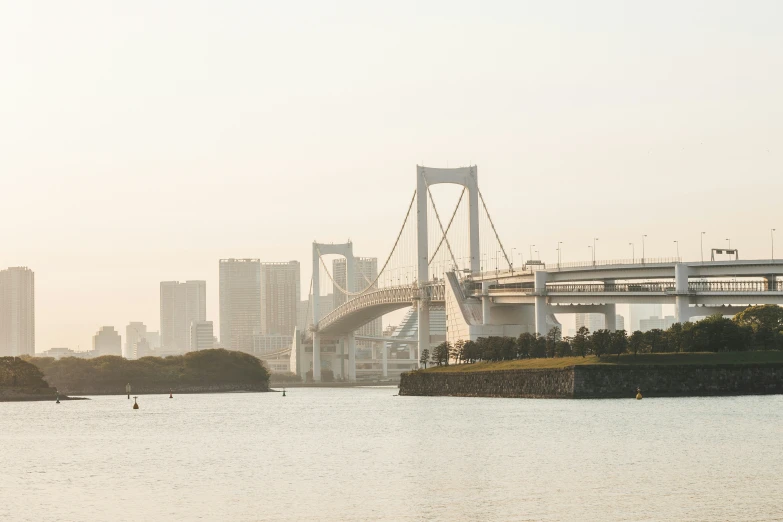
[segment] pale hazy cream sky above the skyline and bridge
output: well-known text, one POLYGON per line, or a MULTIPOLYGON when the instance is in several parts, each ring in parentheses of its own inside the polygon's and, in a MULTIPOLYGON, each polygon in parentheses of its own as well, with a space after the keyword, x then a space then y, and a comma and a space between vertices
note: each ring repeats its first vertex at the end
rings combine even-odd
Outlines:
POLYGON ((313 239, 383 258, 417 163, 477 164, 545 260, 783 255, 783 3, 380 4, 0 0, 0 268, 35 271, 38 351, 156 329, 163 280, 206 279, 217 327, 220 258, 303 291, 313 239))

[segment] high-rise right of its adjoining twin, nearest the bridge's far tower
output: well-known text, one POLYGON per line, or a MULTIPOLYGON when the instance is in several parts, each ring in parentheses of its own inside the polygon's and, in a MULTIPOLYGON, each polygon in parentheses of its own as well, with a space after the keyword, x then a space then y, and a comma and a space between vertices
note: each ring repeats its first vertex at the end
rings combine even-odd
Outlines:
POLYGON ((261 263, 261 333, 293 335, 300 296, 299 261, 261 263))

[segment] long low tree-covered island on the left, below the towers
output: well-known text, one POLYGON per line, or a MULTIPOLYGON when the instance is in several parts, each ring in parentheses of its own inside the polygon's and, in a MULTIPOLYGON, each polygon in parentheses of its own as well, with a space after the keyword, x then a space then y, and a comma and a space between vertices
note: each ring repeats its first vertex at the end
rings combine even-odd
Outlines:
POLYGON ((269 372, 252 355, 228 350, 201 350, 171 357, 128 360, 106 355, 94 359, 31 357, 50 386, 66 393, 79 390, 124 392, 133 388, 172 388, 223 384, 266 384, 269 372))

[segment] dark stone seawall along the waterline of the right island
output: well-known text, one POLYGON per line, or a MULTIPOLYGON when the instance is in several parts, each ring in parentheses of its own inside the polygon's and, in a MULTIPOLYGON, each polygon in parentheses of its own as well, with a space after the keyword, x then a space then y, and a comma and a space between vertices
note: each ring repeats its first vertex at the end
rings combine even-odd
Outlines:
POLYGON ((783 394, 783 364, 594 365, 404 373, 400 395, 597 399, 783 394))

